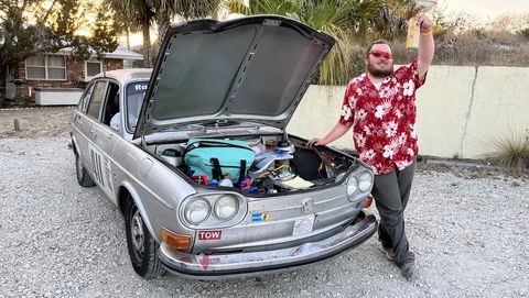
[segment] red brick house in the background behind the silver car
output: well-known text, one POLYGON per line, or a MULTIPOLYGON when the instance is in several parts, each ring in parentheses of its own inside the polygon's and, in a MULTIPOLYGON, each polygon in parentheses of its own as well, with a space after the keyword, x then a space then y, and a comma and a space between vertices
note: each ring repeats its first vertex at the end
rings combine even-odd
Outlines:
POLYGON ((104 53, 101 59, 94 56, 87 60, 75 60, 68 55, 68 51, 39 54, 19 63, 18 67, 11 65, 6 97, 25 98, 43 106, 77 104, 83 89, 94 76, 104 70, 130 68, 133 60, 143 59, 143 55, 125 47, 104 53))

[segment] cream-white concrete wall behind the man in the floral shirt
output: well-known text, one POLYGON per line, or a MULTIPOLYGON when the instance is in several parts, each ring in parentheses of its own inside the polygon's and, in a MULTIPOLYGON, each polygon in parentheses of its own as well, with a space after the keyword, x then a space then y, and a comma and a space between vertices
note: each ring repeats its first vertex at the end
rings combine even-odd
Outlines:
MULTIPOLYGON (((324 136, 336 123, 345 86, 311 86, 289 132, 324 136)), ((498 136, 529 129, 529 68, 432 66, 418 90, 422 155, 483 158, 498 136)), ((353 148, 350 131, 332 146, 353 148)))

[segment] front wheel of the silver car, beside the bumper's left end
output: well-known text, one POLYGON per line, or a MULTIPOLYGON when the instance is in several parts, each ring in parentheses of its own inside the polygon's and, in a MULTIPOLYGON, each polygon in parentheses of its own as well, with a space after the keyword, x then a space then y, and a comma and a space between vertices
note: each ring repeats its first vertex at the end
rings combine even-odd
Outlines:
POLYGON ((151 236, 140 210, 130 198, 126 202, 125 214, 127 246, 129 247, 132 267, 143 278, 158 277, 164 272, 162 263, 158 257, 160 245, 151 236))

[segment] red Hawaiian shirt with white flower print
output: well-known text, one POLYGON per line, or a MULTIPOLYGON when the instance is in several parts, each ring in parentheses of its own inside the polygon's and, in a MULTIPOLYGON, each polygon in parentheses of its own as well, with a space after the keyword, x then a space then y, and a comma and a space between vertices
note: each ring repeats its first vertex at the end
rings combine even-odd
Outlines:
POLYGON ((353 140, 360 159, 375 175, 404 169, 419 152, 415 135, 415 90, 419 78, 417 58, 386 77, 377 90, 367 74, 347 85, 339 122, 353 125, 353 140))

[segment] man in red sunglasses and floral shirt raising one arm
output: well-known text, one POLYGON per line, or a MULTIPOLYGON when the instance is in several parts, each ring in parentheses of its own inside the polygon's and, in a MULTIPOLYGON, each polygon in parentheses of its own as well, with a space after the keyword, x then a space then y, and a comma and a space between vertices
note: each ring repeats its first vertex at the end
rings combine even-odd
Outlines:
POLYGON ((309 142, 326 145, 353 128, 355 148, 375 172, 371 195, 380 213, 381 250, 408 280, 415 269, 403 218, 419 151, 415 90, 424 84, 434 52, 432 22, 425 16, 415 19, 421 34, 418 57, 393 71, 390 45, 384 40, 374 42, 366 51, 366 73, 347 86, 338 123, 325 137, 309 142))

